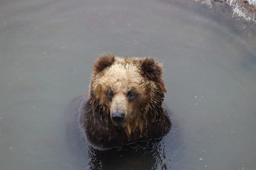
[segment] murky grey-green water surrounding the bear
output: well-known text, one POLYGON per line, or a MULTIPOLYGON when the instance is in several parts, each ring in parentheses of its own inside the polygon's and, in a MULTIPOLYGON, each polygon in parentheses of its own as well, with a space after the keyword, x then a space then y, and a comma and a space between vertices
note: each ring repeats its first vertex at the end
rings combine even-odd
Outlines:
POLYGON ((177 4, 0 2, 1 170, 255 169, 255 52, 177 4), (162 141, 117 149, 111 163, 86 147, 78 159, 65 142, 64 110, 88 91, 96 54, 109 51, 164 62, 177 126, 162 141))

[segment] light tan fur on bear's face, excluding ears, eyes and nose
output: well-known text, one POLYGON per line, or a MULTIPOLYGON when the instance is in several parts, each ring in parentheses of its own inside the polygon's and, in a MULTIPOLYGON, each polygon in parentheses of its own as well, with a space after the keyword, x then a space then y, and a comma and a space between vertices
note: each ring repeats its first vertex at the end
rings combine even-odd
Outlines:
MULTIPOLYGON (((100 72, 94 72, 91 80, 91 98, 95 95, 95 101, 99 102, 104 110, 104 114, 121 112, 125 114, 124 121, 116 126, 124 127, 127 135, 130 136, 134 130, 142 130, 147 124, 147 111, 153 110, 153 96, 158 91, 154 81, 142 76, 139 69, 139 58, 119 58, 111 66, 104 68, 100 72), (112 101, 106 98, 108 90, 113 94, 112 101), (133 90, 137 97, 136 101, 130 102, 127 98, 129 91, 133 90)), ((155 113, 154 113, 155 114, 155 113)), ((153 115, 155 117, 155 115, 153 115)), ((108 124, 109 119, 105 119, 108 124)))

